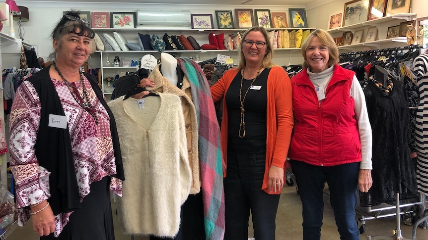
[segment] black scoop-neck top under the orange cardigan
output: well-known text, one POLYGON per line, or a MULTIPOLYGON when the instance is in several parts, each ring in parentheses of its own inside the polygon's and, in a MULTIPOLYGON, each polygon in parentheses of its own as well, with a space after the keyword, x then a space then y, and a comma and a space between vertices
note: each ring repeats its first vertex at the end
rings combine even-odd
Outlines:
MULTIPOLYGON (((229 89, 226 92, 226 105, 229 111, 228 149, 236 152, 260 153, 266 152, 266 107, 268 104, 267 83, 270 68, 264 69, 253 83, 255 88, 249 89, 244 100, 245 137, 239 137, 239 125, 241 120, 241 103, 239 89, 242 74, 236 74, 229 89)), ((242 83, 241 97, 250 88, 253 79, 244 79, 242 83)), ((241 129, 241 136, 243 132, 241 129)))

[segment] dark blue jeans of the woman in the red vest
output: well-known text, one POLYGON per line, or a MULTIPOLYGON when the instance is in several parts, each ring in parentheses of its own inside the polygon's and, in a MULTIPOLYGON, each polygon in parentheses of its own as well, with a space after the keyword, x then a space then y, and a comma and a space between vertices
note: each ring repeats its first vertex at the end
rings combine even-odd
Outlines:
POLYGON ((303 240, 321 239, 326 182, 340 239, 359 240, 355 219, 359 162, 323 167, 291 160, 291 168, 302 201, 303 240))

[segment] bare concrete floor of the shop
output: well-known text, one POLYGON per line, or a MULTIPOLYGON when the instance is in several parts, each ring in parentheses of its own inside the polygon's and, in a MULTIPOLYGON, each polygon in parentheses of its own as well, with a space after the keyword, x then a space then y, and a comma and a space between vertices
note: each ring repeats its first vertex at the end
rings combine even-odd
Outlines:
MULTIPOLYGON (((324 219, 323 227, 321 230, 321 239, 322 240, 339 240, 339 234, 337 232, 337 227, 334 222, 333 211, 330 207, 329 197, 325 195, 324 197, 324 219)), ((115 209, 115 203, 113 202, 113 209, 115 209)), ((361 210, 365 210, 362 209, 361 210)), ((363 211, 361 216, 370 216, 367 211, 363 211)), ((373 214, 372 214, 373 215, 373 214)), ((281 195, 280 206, 277 214, 277 232, 276 240, 301 240, 302 239, 302 227, 301 227, 301 202, 299 195, 296 193, 296 187, 285 186, 285 189, 281 195)), ((116 240, 131 240, 130 236, 122 234, 122 228, 116 217, 114 217, 115 224, 115 233, 116 240)), ((31 230, 31 222, 27 223, 24 227, 17 227, 16 230, 7 238, 7 240, 38 240, 39 237, 36 236, 31 230)), ((372 220, 367 220, 365 224, 365 232, 360 235, 360 240, 366 240, 367 235, 370 236, 393 236, 393 230, 396 229, 396 218, 386 217, 386 218, 377 218, 372 220)), ((401 221, 402 236, 404 239, 412 239, 412 229, 413 226, 405 225, 401 221)), ((249 237, 252 237, 251 229, 251 220, 250 220, 250 229, 249 237)), ((382 238, 390 239, 390 238, 382 238)), ((395 238, 396 239, 396 238, 395 238)), ((416 234, 417 240, 428 240, 428 230, 418 228, 416 234)), ((134 240, 148 240, 146 237, 135 237, 134 240)))

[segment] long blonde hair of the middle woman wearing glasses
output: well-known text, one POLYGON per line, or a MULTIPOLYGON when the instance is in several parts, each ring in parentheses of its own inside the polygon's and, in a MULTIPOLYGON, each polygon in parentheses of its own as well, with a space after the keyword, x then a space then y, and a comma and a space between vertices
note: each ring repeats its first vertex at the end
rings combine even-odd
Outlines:
POLYGON ((244 46, 244 40, 246 40, 245 38, 247 37, 247 35, 250 32, 261 32, 263 34, 263 37, 265 37, 265 42, 266 42, 266 54, 263 57, 263 62, 262 62, 262 66, 265 68, 271 68, 273 66, 276 66, 276 64, 274 64, 272 62, 272 57, 274 55, 274 48, 272 47, 272 43, 269 39, 268 36, 268 31, 266 31, 266 29, 264 27, 259 27, 259 26, 254 26, 251 27, 249 29, 247 29, 247 31, 245 31, 245 33, 242 35, 242 41, 241 44, 239 45, 239 65, 237 66, 238 69, 244 69, 246 66, 246 60, 244 57, 244 53, 242 52, 242 46, 244 46))

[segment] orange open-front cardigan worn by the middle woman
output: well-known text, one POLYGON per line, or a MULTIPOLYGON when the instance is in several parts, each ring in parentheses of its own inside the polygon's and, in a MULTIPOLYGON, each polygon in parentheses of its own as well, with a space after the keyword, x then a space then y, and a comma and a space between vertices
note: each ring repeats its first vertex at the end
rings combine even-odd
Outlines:
MULTIPOLYGON (((228 111, 224 99, 230 83, 239 72, 233 68, 226 71, 221 79, 211 87, 214 102, 223 99, 223 115, 221 120, 221 150, 223 153, 223 169, 227 166, 227 134, 228 111)), ((272 165, 284 168, 285 158, 290 145, 293 128, 293 111, 291 96, 291 80, 280 66, 272 67, 267 83, 268 105, 266 107, 267 139, 266 139, 266 168, 262 190, 270 194, 280 194, 281 191, 270 192, 268 187, 269 169, 272 165)), ((223 172, 226 177, 226 172, 223 172)))

